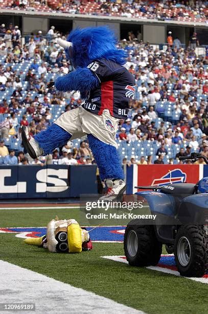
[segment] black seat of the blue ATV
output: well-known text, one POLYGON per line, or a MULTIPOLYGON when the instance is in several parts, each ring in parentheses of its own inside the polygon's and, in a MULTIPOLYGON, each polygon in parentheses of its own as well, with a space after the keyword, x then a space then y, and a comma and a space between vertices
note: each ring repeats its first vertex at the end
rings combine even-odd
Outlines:
POLYGON ((194 194, 196 184, 194 183, 173 183, 161 187, 165 194, 194 194))

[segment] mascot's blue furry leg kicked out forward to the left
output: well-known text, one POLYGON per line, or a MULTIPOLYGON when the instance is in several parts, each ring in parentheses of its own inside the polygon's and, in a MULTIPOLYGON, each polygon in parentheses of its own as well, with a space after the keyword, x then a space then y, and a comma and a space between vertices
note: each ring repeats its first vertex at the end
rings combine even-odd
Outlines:
POLYGON ((71 134, 53 123, 45 131, 34 136, 39 146, 43 149, 44 155, 51 154, 55 148, 63 146, 71 138, 71 134))

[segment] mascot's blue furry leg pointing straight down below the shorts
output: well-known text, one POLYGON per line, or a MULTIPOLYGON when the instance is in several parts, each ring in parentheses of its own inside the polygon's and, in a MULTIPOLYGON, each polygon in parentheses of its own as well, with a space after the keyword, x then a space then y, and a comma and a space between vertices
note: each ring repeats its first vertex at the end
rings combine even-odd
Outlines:
POLYGON ((98 165, 100 178, 106 179, 124 179, 124 173, 121 167, 117 149, 109 144, 95 138, 94 135, 87 135, 89 147, 93 152, 95 161, 98 165))

